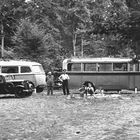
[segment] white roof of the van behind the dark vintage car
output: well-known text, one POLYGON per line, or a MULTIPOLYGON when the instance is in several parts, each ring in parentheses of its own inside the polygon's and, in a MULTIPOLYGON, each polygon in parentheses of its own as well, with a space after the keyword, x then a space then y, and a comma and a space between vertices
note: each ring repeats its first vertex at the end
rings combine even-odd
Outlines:
POLYGON ((37 62, 25 61, 25 60, 1 60, 0 66, 31 66, 31 65, 41 65, 37 62))

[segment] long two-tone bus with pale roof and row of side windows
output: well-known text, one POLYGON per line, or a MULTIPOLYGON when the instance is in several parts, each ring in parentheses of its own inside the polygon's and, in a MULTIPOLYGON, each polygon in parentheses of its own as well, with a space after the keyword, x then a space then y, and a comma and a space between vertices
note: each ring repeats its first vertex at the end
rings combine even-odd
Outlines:
POLYGON ((63 61, 70 88, 91 81, 104 90, 140 89, 140 63, 130 58, 71 58, 63 61))

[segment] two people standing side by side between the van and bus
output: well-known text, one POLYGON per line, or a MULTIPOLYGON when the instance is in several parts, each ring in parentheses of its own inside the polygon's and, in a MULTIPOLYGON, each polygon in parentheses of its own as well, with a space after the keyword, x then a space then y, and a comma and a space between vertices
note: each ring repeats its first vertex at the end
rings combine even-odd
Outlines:
MULTIPOLYGON (((58 79, 62 82, 62 89, 64 95, 69 95, 69 87, 68 80, 70 79, 68 74, 66 74, 66 69, 63 70, 63 73, 58 77, 58 79)), ((51 72, 48 72, 46 76, 47 83, 47 95, 53 95, 53 87, 54 87, 54 76, 51 72)))

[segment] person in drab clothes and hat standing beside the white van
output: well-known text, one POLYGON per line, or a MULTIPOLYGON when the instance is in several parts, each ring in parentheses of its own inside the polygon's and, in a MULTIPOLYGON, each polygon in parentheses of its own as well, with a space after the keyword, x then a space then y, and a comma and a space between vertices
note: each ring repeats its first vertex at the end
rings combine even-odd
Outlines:
POLYGON ((53 95, 53 86, 54 86, 54 76, 51 72, 48 72, 46 76, 46 83, 47 83, 47 95, 53 95))

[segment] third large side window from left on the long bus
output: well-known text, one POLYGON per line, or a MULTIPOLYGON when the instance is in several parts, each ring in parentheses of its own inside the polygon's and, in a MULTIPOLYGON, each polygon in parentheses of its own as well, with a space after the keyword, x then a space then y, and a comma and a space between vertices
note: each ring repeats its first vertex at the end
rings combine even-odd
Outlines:
POLYGON ((98 71, 112 71, 111 63, 98 63, 98 71))

